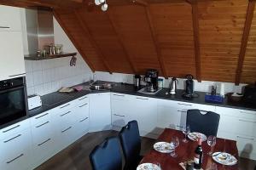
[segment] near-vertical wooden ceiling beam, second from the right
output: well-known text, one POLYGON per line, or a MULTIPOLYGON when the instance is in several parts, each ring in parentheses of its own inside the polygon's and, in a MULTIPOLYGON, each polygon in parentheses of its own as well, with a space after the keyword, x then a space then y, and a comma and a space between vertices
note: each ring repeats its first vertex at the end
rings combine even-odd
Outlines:
POLYGON ((191 0, 192 7, 192 22, 195 48, 195 74, 196 80, 201 82, 201 53, 200 53, 200 34, 199 34, 199 20, 198 20, 198 6, 197 0, 191 0))

